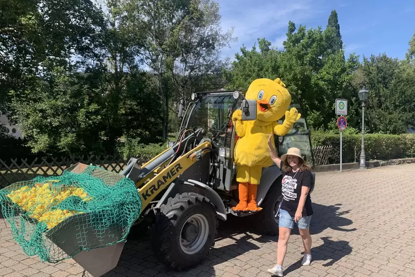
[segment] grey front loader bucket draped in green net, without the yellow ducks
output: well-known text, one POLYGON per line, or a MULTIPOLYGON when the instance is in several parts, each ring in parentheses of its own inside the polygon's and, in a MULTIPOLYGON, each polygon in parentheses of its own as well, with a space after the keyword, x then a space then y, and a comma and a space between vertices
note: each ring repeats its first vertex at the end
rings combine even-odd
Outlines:
MULTIPOLYGON (((88 175, 92 180, 95 180, 95 178, 102 180, 105 186, 102 189, 107 191, 100 194, 94 192, 93 189, 85 189, 90 192, 89 195, 92 199, 90 202, 95 203, 95 206, 91 204, 88 207, 85 202, 76 202, 75 198, 64 203, 64 205, 70 206, 74 202, 80 207, 85 207, 84 212, 67 216, 52 228, 48 228, 39 215, 34 216, 35 213, 30 213, 17 205, 11 199, 14 197, 16 201, 16 194, 11 193, 11 189, 6 190, 7 188, 5 188, 3 190, 6 190, 6 192, 0 191, 2 192, 0 193, 1 210, 11 226, 13 238, 21 245, 28 256, 38 255, 42 261, 52 263, 66 258, 73 258, 93 277, 100 277, 117 266, 129 229, 140 215, 141 198, 134 182, 120 174, 99 168, 92 168, 91 170, 91 166, 80 163, 65 171, 66 173, 63 173, 62 177, 69 174, 69 176, 77 178, 76 175, 79 174, 80 177, 88 175), (128 182, 126 185, 120 183, 125 181, 128 182), (111 196, 120 193, 115 190, 118 188, 124 189, 121 192, 121 197, 113 197, 119 201, 106 203, 105 201, 111 199, 111 196), (97 199, 92 197, 94 195, 97 199), (134 198, 131 198, 131 195, 134 198), (137 203, 131 204, 125 199, 130 201, 132 199, 137 203), (96 202, 93 202, 93 200, 96 200, 96 202), (94 210, 91 207, 97 209, 94 210), (122 213, 123 211, 125 212, 122 213)), ((40 181, 39 178, 51 179, 50 177, 36 177, 32 183, 38 184, 36 182, 40 181)), ((54 178, 58 179, 58 177, 52 177, 52 179, 54 178)), ((24 188, 24 185, 27 184, 15 183, 10 187, 18 190, 24 188)), ((54 206, 53 209, 59 208, 59 205, 62 205, 64 201, 54 206)))

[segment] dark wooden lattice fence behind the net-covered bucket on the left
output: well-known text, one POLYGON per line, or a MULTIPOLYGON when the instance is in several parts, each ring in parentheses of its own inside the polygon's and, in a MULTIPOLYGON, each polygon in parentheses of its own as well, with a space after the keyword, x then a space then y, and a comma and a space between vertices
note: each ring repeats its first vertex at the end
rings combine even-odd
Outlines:
MULTIPOLYGON (((151 157, 136 158, 139 158, 139 163, 145 163, 151 157)), ((92 164, 105 170, 120 173, 124 170, 128 160, 114 156, 36 157, 31 163, 28 163, 27 159, 20 161, 11 159, 8 162, 0 159, 0 188, 18 181, 31 180, 36 176, 59 176, 63 170, 77 163, 92 164)))

